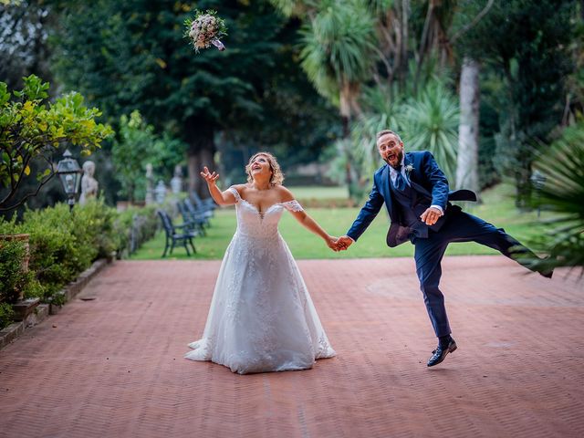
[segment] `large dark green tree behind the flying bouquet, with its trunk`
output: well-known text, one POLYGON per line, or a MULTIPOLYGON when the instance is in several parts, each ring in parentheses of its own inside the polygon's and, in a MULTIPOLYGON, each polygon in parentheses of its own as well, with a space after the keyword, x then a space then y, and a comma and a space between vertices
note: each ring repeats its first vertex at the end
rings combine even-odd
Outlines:
POLYGON ((198 172, 213 166, 219 130, 262 117, 266 82, 276 71, 286 26, 266 2, 206 0, 225 19, 227 50, 195 55, 183 39, 192 4, 171 0, 66 2, 56 64, 68 88, 82 90, 112 122, 138 109, 158 129, 188 147, 189 187, 202 190, 198 172))

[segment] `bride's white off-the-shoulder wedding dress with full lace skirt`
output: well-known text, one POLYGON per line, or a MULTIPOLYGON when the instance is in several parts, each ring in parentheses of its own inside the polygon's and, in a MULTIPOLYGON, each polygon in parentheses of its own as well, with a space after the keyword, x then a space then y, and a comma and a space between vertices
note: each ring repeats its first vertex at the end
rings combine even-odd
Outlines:
POLYGON ((203 339, 189 344, 190 360, 212 360, 240 374, 306 370, 330 358, 317 310, 298 266, 277 230, 284 209, 276 203, 260 214, 235 188, 237 230, 225 251, 203 339))

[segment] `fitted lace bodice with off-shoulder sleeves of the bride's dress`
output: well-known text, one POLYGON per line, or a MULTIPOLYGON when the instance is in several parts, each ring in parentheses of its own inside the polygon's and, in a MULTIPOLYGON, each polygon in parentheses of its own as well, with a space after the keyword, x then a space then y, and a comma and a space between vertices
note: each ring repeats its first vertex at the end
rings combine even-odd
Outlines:
POLYGON ((277 224, 284 209, 291 212, 303 211, 302 205, 296 200, 286 203, 274 203, 265 212, 259 212, 253 203, 243 199, 235 187, 230 187, 229 191, 235 196, 235 209, 237 211, 237 232, 242 235, 252 235, 259 238, 274 237, 277 235, 277 224))

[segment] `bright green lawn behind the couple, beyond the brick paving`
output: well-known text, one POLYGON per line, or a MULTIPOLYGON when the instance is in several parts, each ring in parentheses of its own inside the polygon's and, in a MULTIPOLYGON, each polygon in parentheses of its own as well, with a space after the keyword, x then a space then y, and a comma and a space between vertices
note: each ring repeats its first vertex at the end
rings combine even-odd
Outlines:
MULTIPOLYGON (((339 188, 292 188, 300 202, 308 199, 342 198, 344 189, 339 188)), ((513 191, 508 185, 499 185, 495 189, 483 193, 484 203, 470 204, 464 207, 468 213, 482 217, 496 226, 504 227, 506 232, 519 240, 525 240, 531 235, 541 232, 537 224, 536 213, 519 213, 513 204, 513 191)), ((331 235, 344 235, 350 224, 359 213, 359 208, 311 208, 307 212, 331 235)), ((545 216, 542 214, 542 219, 545 216)), ((351 245, 348 251, 334 253, 316 235, 296 222, 291 214, 285 213, 280 223, 280 232, 287 241, 292 254, 298 258, 358 258, 358 257, 398 257, 413 255, 413 245, 408 243, 397 248, 385 245, 385 235, 388 228, 388 217, 382 209, 377 218, 370 224, 367 231, 361 235, 359 242, 351 245)), ((225 248, 229 245, 235 232, 235 208, 217 209, 208 235, 195 240, 197 254, 191 259, 221 259, 225 248)), ((157 259, 162 255, 164 236, 162 233, 146 243, 131 258, 134 260, 157 259)), ((497 254, 485 246, 478 244, 452 244, 447 255, 484 255, 497 254)), ((172 259, 187 259, 184 248, 174 250, 172 259)))

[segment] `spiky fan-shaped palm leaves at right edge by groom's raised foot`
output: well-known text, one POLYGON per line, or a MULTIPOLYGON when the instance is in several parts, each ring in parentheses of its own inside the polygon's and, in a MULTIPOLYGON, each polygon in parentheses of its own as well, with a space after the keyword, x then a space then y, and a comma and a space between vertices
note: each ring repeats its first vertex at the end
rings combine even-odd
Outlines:
POLYGON ((579 266, 584 274, 584 120, 568 129, 538 156, 546 177, 542 208, 557 214, 537 245, 550 257, 539 266, 579 266))

